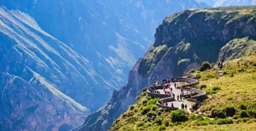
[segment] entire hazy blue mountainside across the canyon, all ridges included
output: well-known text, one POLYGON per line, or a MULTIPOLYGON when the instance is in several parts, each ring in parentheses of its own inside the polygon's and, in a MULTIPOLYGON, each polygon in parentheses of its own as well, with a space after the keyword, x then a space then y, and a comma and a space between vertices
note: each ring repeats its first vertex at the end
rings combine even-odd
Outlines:
POLYGON ((0 87, 0 129, 81 124, 127 83, 164 16, 205 7, 193 0, 0 0, 0 83, 6 75, 19 80, 8 92, 0 87))

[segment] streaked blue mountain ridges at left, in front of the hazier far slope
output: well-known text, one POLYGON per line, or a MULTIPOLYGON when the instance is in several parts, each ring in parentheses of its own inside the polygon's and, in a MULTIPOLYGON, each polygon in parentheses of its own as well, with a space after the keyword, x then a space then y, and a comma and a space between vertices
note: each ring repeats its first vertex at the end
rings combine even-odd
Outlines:
POLYGON ((0 25, 0 130, 70 130, 81 124, 90 111, 69 96, 75 90, 92 94, 81 89, 91 78, 88 60, 20 11, 0 7, 0 25))

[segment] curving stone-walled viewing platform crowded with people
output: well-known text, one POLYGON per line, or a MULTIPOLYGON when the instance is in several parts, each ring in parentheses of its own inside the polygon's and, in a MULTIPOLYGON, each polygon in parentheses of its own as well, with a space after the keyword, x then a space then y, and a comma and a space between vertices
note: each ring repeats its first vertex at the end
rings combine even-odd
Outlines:
POLYGON ((167 110, 185 109, 191 113, 193 104, 200 104, 207 98, 203 90, 197 89, 199 81, 195 75, 184 73, 183 77, 158 81, 148 88, 144 88, 148 96, 161 98, 156 105, 167 110), (185 108, 186 105, 186 108, 185 108))

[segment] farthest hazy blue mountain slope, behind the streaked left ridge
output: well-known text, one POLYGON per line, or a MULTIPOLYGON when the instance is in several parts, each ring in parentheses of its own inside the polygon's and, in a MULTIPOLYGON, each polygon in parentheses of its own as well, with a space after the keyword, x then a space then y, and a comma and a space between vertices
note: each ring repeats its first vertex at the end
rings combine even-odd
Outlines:
POLYGON ((86 67, 91 68, 84 74, 87 84, 61 83, 57 86, 69 86, 66 92, 70 93, 64 93, 92 111, 107 102, 114 88, 127 83, 129 70, 152 43, 152 29, 164 16, 185 8, 207 7, 193 0, 181 1, 175 9, 171 8, 175 4, 173 1, 128 2, 0 0, 9 10, 30 14, 41 29, 87 59, 86 67), (160 9, 165 12, 161 13, 160 9), (95 90, 90 94, 79 92, 92 88, 95 90))

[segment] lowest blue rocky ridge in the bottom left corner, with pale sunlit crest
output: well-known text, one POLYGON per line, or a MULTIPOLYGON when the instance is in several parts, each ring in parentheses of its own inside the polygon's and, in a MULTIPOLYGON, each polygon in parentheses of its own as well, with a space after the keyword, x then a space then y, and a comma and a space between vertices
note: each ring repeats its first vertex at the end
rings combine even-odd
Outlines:
POLYGON ((0 73, 0 130, 70 130, 89 111, 35 74, 29 83, 0 73))

